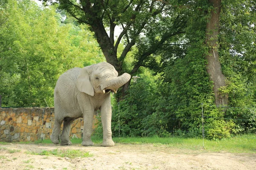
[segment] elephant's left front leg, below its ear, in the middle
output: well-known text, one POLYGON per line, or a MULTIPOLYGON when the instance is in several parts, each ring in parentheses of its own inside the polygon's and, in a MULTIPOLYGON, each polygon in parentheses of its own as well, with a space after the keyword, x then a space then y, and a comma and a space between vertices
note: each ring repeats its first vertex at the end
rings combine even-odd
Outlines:
POLYGON ((91 135, 93 133, 93 109, 84 111, 84 135, 82 146, 93 146, 91 135))

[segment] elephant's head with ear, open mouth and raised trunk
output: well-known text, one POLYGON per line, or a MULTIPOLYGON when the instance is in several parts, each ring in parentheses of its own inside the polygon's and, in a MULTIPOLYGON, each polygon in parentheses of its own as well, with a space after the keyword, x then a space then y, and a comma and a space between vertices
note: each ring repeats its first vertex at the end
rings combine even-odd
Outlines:
POLYGON ((82 68, 76 79, 76 87, 91 96, 94 96, 94 93, 110 91, 116 93, 118 88, 131 79, 131 75, 127 73, 117 76, 118 73, 113 65, 101 62, 82 68))

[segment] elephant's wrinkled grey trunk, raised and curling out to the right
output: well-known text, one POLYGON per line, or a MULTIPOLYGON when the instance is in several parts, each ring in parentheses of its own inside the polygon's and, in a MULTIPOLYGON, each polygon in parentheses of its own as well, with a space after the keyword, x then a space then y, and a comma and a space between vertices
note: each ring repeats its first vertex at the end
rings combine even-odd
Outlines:
POLYGON ((111 89, 116 92, 118 88, 127 83, 131 79, 131 75, 124 73, 119 77, 111 77, 107 80, 107 85, 102 87, 102 91, 106 89, 111 89))

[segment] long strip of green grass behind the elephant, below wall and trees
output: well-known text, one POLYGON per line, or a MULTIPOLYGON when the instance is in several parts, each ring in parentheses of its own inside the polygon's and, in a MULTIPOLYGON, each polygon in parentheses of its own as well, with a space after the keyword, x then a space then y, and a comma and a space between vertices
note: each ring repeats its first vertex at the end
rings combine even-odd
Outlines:
MULTIPOLYGON (((81 144, 81 139, 71 139, 73 144, 81 144)), ((101 144, 102 138, 92 136, 94 144, 101 144)), ((233 136, 230 139, 206 140, 198 138, 159 138, 159 137, 114 137, 116 143, 127 144, 153 144, 155 147, 165 146, 176 149, 201 150, 207 152, 230 152, 230 153, 256 153, 256 134, 233 136)), ((30 142, 33 143, 33 142, 30 142)), ((35 144, 52 144, 50 139, 38 140, 35 144)), ((2 144, 2 142, 0 142, 2 144)), ((6 144, 6 142, 4 142, 6 144)), ((8 144, 8 143, 7 143, 8 144)), ((20 144, 20 143, 19 143, 20 144)), ((1 149, 2 147, 0 147, 1 149)))

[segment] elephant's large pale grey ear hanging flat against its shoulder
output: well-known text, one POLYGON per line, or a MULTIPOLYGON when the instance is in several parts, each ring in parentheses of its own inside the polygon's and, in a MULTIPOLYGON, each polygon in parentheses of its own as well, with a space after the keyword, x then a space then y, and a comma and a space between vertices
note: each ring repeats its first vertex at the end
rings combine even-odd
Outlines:
POLYGON ((88 73, 89 68, 90 66, 81 69, 76 79, 76 88, 81 92, 94 96, 93 86, 90 83, 90 75, 88 73))

